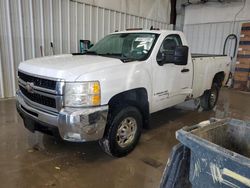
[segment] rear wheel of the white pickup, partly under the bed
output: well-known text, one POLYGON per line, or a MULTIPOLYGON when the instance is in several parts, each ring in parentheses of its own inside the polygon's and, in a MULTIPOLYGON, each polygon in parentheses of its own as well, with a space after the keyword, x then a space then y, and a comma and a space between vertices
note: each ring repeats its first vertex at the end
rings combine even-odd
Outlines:
POLYGON ((213 83, 210 90, 206 90, 201 96, 201 107, 205 111, 212 110, 217 104, 220 87, 213 83))

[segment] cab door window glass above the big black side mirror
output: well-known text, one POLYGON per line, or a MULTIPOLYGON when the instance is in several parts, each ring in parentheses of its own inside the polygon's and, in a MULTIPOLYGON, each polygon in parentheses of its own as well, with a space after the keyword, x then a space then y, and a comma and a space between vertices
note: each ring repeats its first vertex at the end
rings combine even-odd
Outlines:
MULTIPOLYGON (((160 47, 160 53, 171 54, 174 52, 176 46, 182 46, 181 38, 179 35, 168 35, 160 47)), ((159 53, 158 52, 158 53, 159 53)))

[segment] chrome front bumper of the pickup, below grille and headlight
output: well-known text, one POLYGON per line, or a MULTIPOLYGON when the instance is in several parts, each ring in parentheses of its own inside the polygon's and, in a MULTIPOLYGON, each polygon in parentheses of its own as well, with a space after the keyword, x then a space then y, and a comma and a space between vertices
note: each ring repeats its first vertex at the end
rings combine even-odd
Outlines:
POLYGON ((58 130, 61 138, 73 142, 99 140, 103 137, 108 106, 90 108, 63 108, 59 113, 35 106, 22 95, 16 94, 17 110, 31 131, 58 130), (43 127, 43 129, 41 129, 43 127))

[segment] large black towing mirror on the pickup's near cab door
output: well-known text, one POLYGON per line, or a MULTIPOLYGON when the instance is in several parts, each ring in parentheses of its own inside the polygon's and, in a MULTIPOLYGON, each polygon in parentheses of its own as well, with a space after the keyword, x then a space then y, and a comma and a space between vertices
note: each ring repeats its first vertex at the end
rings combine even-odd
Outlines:
POLYGON ((167 63, 186 65, 188 60, 188 47, 176 46, 174 50, 157 54, 156 60, 160 66, 167 63))

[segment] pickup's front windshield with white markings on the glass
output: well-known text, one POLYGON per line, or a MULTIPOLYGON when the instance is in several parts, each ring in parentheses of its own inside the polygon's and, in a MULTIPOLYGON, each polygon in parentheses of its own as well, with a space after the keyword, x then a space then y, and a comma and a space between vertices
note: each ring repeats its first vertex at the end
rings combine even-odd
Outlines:
POLYGON ((124 61, 145 60, 151 53, 158 35, 154 33, 111 34, 86 53, 116 57, 124 61))

